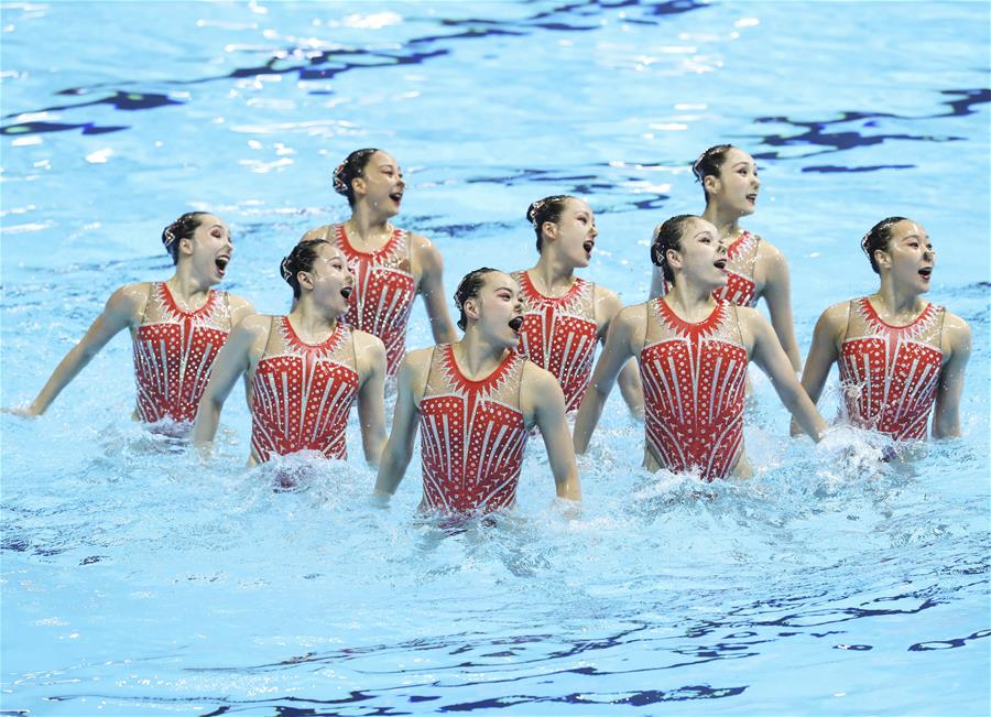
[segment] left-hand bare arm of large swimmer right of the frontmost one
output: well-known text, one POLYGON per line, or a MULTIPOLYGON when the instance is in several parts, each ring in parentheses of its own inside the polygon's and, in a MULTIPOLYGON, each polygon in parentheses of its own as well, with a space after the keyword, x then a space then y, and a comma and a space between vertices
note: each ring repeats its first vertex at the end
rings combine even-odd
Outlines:
POLYGON ((592 372, 585 399, 578 409, 578 416, 575 419, 573 437, 575 453, 580 455, 588 450, 588 442, 599 424, 599 417, 602 415, 602 408, 606 405, 606 399, 612 390, 612 384, 616 383, 616 379, 627 361, 635 356, 638 347, 634 346, 634 336, 643 334, 645 321, 646 304, 628 306, 612 319, 606 337, 606 347, 596 362, 596 370, 592 372))

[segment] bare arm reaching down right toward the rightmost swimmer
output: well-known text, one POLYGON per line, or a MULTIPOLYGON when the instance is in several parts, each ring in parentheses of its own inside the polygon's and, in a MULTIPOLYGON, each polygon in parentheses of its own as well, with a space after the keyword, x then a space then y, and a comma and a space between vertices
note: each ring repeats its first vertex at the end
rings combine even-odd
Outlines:
POLYGON ((816 404, 812 402, 805 389, 798 383, 798 377, 795 376, 788 357, 781 348, 774 329, 755 308, 738 306, 737 312, 743 329, 743 340, 749 339, 750 354, 754 363, 771 379, 781 402, 792 412, 792 415, 798 421, 798 425, 814 441, 821 441, 826 433, 826 422, 816 411, 816 404))

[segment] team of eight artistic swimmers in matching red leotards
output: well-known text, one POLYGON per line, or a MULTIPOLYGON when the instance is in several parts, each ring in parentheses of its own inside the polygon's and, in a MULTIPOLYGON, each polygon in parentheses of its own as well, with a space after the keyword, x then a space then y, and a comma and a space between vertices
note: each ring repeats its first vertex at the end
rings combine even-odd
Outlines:
POLYGON ((293 292, 288 314, 260 315, 244 298, 214 290, 233 254, 229 229, 213 214, 185 214, 162 233, 173 276, 116 291, 37 398, 17 412, 43 413, 127 327, 137 420, 178 433, 192 424, 193 443, 208 450, 243 376, 251 464, 303 450, 345 459, 357 401, 364 458, 378 466, 375 495, 396 490, 418 428, 421 507, 448 513, 511 507, 536 433, 557 496, 579 500, 575 455, 588 448, 617 382, 630 411, 643 416, 649 469, 707 481, 750 476, 743 406, 751 360, 792 413, 793 433, 818 441, 827 431, 815 403, 838 363, 853 424, 921 439, 935 405, 933 435, 959 435, 970 329, 923 298, 935 252, 922 226, 889 217, 867 233, 861 247, 880 287, 824 312, 799 382, 787 262, 739 226, 760 191, 753 159, 721 144, 693 171, 705 211, 654 230, 649 301, 622 307, 614 292, 575 275, 595 249, 595 213, 579 197, 549 196, 526 213, 536 235, 533 267, 482 268, 460 281, 459 339, 439 251, 390 221, 405 192, 399 163, 382 150, 358 150, 334 173, 350 218, 306 232, 282 261, 293 292), (436 345, 406 352, 416 295, 436 345), (754 309, 760 298, 770 324, 754 309), (395 406, 386 439, 389 381, 395 406))

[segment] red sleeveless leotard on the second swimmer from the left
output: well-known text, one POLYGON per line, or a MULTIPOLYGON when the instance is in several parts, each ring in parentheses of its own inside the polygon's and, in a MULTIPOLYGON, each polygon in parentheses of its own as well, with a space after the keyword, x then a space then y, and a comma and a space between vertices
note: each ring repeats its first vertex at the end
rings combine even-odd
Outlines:
POLYGON ((338 322, 323 344, 304 344, 288 317, 273 317, 254 369, 251 448, 259 461, 297 450, 347 458, 345 428, 358 393, 351 328, 338 322))

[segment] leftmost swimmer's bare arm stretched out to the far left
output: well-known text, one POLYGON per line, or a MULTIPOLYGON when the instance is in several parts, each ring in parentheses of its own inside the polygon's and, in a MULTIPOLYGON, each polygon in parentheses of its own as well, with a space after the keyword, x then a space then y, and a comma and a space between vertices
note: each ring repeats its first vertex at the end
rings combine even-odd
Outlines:
POLYGON ((62 390, 78 376, 107 343, 123 329, 135 326, 148 301, 146 283, 121 286, 107 300, 104 313, 90 325, 78 344, 65 355, 45 382, 41 392, 26 409, 12 413, 35 416, 44 413, 62 390))

